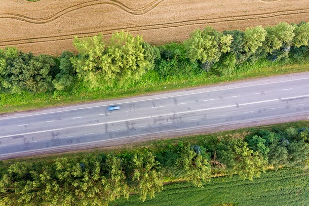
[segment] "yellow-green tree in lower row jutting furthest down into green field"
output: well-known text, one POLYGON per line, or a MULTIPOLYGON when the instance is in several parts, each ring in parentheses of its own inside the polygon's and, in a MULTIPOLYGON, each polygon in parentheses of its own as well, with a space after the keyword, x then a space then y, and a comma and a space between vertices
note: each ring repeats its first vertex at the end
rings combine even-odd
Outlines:
POLYGON ((156 192, 162 191, 162 174, 159 171, 159 164, 154 160, 154 155, 151 152, 144 151, 134 154, 130 167, 132 184, 143 202, 147 196, 152 199, 156 192))

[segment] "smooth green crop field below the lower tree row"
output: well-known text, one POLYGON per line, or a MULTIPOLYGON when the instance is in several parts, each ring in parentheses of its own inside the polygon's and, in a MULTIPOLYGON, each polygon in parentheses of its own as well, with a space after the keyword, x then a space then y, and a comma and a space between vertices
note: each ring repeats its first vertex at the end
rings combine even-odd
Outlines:
POLYGON ((120 198, 110 206, 213 206, 233 203, 238 206, 307 206, 308 171, 284 168, 267 171, 253 181, 238 175, 213 178, 197 188, 189 183, 172 183, 144 203, 138 196, 120 198))

